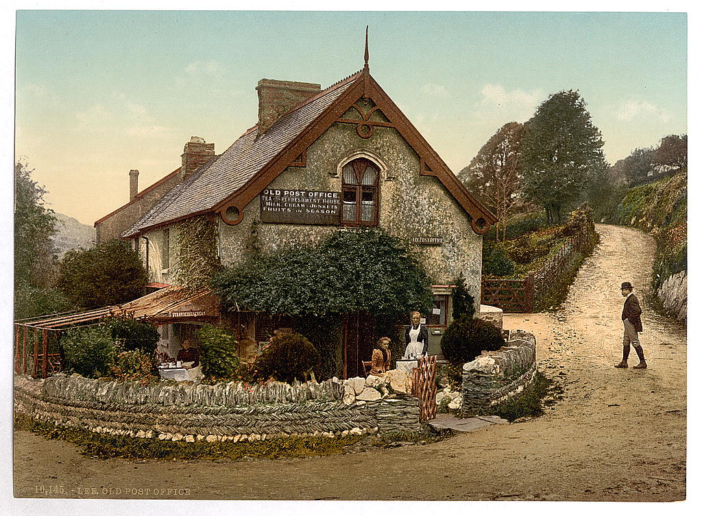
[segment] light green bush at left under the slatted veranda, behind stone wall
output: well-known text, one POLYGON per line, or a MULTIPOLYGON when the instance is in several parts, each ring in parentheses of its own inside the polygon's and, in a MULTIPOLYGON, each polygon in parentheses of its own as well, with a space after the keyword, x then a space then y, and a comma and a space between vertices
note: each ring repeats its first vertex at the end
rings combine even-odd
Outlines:
POLYGON ((67 370, 83 376, 105 376, 114 364, 114 341, 110 329, 103 325, 71 328, 61 346, 67 370))

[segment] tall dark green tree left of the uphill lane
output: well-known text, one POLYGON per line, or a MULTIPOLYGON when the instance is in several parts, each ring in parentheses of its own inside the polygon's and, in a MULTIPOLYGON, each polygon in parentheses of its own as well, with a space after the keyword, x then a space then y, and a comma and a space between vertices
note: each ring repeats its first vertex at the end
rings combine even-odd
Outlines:
POLYGON ((524 194, 545 208, 549 222, 559 221, 562 208, 576 202, 607 167, 603 144, 585 100, 574 90, 548 97, 524 124, 524 194))

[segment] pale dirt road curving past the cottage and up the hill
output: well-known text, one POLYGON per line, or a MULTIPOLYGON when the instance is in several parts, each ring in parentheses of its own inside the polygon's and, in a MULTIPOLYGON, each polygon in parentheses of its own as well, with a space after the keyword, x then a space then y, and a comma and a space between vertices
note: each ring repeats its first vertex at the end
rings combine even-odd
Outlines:
POLYGON ((684 328, 647 309, 654 241, 633 229, 597 229, 602 243, 559 311, 505 315, 505 327, 536 334, 541 369, 564 385, 564 400, 537 419, 433 444, 252 462, 102 461, 81 456, 72 444, 18 432, 15 496, 41 496, 38 486, 62 484, 74 490, 68 496, 85 498, 153 498, 154 489, 187 489, 163 497, 682 500, 684 328), (644 308, 646 370, 612 367, 621 360, 623 280, 633 283, 644 308), (125 496, 126 489, 149 491, 125 496))

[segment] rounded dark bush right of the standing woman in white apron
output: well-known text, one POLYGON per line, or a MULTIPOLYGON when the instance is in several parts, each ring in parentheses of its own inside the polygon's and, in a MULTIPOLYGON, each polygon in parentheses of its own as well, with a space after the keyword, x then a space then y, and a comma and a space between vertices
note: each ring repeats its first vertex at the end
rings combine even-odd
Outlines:
POLYGON ((480 319, 454 320, 441 339, 444 358, 454 364, 470 362, 481 351, 497 351, 504 345, 500 330, 480 319))

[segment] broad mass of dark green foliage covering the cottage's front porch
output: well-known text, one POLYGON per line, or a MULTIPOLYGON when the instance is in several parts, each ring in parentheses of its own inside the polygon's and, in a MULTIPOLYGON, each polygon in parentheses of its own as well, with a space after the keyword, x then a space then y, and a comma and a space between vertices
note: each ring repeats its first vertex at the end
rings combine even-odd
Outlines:
POLYGON ((373 229, 336 231, 314 247, 252 259, 220 271, 214 284, 227 308, 286 315, 397 314, 433 304, 416 258, 373 229))

